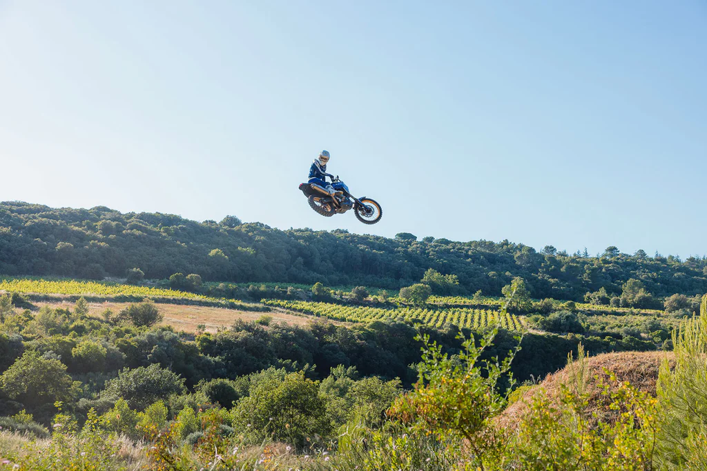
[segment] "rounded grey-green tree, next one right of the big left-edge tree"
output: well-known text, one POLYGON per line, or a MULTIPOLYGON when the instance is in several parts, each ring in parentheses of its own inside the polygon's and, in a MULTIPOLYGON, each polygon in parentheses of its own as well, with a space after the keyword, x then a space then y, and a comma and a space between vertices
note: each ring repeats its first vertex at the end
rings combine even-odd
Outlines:
POLYGON ((185 380, 158 364, 119 371, 117 378, 105 383, 103 398, 124 398, 130 407, 143 410, 148 405, 173 394, 187 392, 185 380))

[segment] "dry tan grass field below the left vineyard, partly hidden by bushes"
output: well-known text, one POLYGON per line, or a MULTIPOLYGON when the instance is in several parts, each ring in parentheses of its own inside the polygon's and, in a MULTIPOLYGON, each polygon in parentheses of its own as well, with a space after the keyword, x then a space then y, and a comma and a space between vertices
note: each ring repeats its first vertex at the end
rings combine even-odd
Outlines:
MULTIPOLYGON (((35 303, 37 306, 49 306, 52 308, 61 307, 64 309, 74 309, 74 303, 65 301, 59 303, 35 303)), ((119 311, 125 309, 130 303, 119 302, 98 302, 89 303, 89 314, 92 316, 101 316, 103 311, 110 309, 113 314, 118 314, 119 311)), ((176 330, 183 332, 194 333, 197 331, 197 326, 203 324, 206 326, 206 332, 216 332, 218 328, 228 328, 233 326, 236 319, 243 321, 255 321, 263 315, 271 316, 272 321, 276 323, 289 323, 296 326, 305 326, 310 323, 314 316, 302 314, 293 314, 285 309, 273 309, 270 312, 252 312, 238 311, 236 309, 226 309, 221 307, 208 306, 190 306, 184 304, 157 304, 160 313, 163 314, 164 320, 162 324, 165 326, 173 326, 176 330)), ((335 322, 341 324, 341 322, 335 322)))

